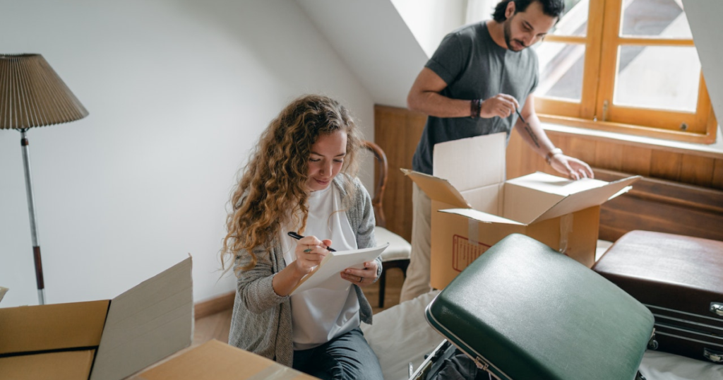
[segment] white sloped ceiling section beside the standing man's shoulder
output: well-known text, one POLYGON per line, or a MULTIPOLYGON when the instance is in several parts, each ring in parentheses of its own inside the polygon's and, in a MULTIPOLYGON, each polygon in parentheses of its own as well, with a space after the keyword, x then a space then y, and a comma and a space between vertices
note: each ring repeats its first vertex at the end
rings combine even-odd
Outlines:
POLYGON ((372 95, 406 108, 427 55, 390 0, 296 0, 372 95))

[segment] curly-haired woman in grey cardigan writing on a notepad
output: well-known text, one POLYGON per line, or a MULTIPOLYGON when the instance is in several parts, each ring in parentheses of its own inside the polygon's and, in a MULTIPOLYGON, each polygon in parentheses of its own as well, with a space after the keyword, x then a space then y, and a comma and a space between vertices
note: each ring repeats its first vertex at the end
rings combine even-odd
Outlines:
POLYGON ((372 201, 356 178, 360 143, 348 111, 324 96, 296 99, 262 133, 231 197, 221 251, 238 277, 230 345, 320 379, 382 379, 359 329, 372 323, 359 287, 377 280, 380 259, 343 271, 348 290, 289 296, 332 243, 375 245, 372 201))

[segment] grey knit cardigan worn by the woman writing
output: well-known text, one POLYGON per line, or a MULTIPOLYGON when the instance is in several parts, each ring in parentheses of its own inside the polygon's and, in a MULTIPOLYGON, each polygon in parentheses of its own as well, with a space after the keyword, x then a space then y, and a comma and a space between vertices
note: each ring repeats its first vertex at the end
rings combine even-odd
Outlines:
MULTIPOLYGON (((341 190, 342 200, 347 195, 343 187, 346 179, 344 174, 339 174, 333 180, 333 184, 341 190)), ((356 178, 354 185, 356 185, 356 201, 346 211, 346 216, 351 228, 356 232, 356 245, 359 248, 374 247, 376 241, 372 198, 356 178)), ((273 276, 286 267, 278 237, 274 237, 270 255, 261 247, 254 248, 254 254, 258 260, 256 266, 248 271, 241 271, 236 282, 236 299, 228 344, 290 367, 294 360, 291 298, 277 295, 271 285, 273 276)), ((250 261, 250 255, 244 252, 239 253, 239 256, 234 269, 250 261)), ((382 273, 380 258, 377 258, 377 266, 378 278, 382 273)), ((360 287, 354 285, 354 290, 359 297, 359 317, 364 323, 371 324, 372 306, 369 305, 360 287)))

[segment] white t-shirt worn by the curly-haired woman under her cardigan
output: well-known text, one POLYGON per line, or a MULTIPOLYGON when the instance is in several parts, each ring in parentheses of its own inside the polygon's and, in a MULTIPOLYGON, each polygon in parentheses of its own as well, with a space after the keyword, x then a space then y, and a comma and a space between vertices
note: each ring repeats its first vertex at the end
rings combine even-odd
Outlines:
MULTIPOLYGON (((291 228, 281 228, 281 249, 287 266, 296 260, 294 250, 298 242, 287 235, 289 231, 297 232, 291 228)), ((335 185, 309 195, 309 216, 302 235, 329 239, 335 250, 358 248, 335 185)), ((346 290, 315 288, 291 296, 294 350, 317 347, 359 326, 359 299, 351 282, 349 284, 346 290)))

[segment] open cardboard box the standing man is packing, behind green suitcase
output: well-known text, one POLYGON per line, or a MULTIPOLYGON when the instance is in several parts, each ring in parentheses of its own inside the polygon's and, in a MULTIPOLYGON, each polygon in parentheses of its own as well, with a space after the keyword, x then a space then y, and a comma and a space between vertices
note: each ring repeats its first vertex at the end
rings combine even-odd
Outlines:
POLYGON ((640 178, 572 181, 537 172, 505 181, 506 138, 497 133, 435 145, 434 176, 402 169, 432 199, 432 287, 447 286, 512 233, 591 267, 600 205, 640 178))

